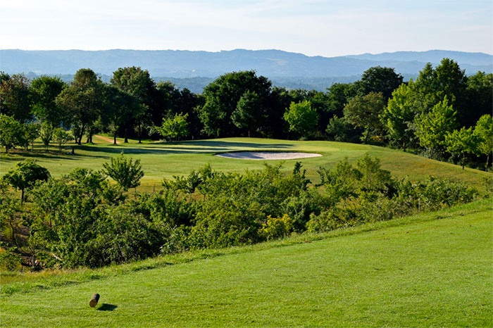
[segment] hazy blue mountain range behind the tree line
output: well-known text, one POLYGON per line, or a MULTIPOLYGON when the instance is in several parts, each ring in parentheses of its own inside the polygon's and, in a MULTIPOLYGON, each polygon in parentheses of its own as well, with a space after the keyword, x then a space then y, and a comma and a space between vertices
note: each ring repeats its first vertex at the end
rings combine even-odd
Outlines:
POLYGON ((120 67, 140 66, 149 70, 155 80, 171 80, 178 87, 180 84, 184 87, 192 85, 189 87, 192 92, 200 92, 201 87, 207 82, 225 72, 253 69, 258 75, 269 77, 277 85, 325 89, 332 82, 358 80, 361 73, 376 65, 395 68, 406 78, 413 77, 425 63, 437 65, 444 57, 457 61, 461 68, 466 70, 466 74, 474 74, 478 70, 493 72, 493 56, 487 53, 431 50, 364 53, 327 58, 280 50, 244 49, 219 52, 121 49, 0 50, 0 70, 10 74, 31 72, 29 75, 70 77, 80 68, 92 68, 101 76, 109 77, 120 67))

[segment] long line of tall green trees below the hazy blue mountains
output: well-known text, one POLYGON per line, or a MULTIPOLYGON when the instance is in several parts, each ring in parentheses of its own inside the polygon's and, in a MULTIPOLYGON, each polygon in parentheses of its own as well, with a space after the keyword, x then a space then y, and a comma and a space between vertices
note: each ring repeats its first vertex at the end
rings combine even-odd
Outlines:
POLYGON ((205 137, 321 139, 387 145, 423 156, 488 167, 492 153, 493 75, 467 76, 444 58, 416 80, 369 68, 361 80, 325 92, 275 87, 256 72, 230 72, 202 94, 156 84, 147 70, 119 68, 110 83, 90 69, 73 82, 0 75, 0 143, 6 151, 40 137, 61 146, 98 132, 167 141, 205 137), (57 130, 58 129, 58 130, 57 130), (63 134, 70 130, 71 134, 63 134), (480 164, 482 163, 482 164, 480 164))

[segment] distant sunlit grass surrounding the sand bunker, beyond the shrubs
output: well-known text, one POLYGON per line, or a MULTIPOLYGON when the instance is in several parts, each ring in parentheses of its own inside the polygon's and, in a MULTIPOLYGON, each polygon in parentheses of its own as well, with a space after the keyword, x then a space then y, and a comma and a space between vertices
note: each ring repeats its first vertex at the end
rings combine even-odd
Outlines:
MULTIPOLYGON (((306 151, 320 153, 322 157, 304 158, 299 161, 307 170, 308 177, 317 182, 316 170, 319 166, 334 165, 344 157, 356 160, 365 153, 377 156, 382 160, 383 168, 390 170, 393 175, 403 177, 408 175, 411 179, 423 179, 427 175, 449 177, 466 182, 481 189, 480 178, 487 173, 480 170, 466 168, 461 170, 458 165, 442 163, 415 156, 402 151, 387 149, 378 146, 363 144, 348 144, 332 141, 290 141, 276 139, 255 138, 227 138, 199 141, 180 141, 173 143, 145 142, 137 144, 130 140, 130 144, 118 144, 113 146, 108 141, 94 137, 96 144, 76 146, 75 155, 61 154, 55 148, 49 153, 42 151, 42 145, 36 144, 35 152, 18 152, 12 155, 2 154, 0 158, 0 174, 13 167, 15 163, 24 158, 35 158, 49 169, 51 175, 59 177, 74 168, 92 168, 100 170, 102 164, 111 156, 116 156, 121 151, 141 160, 145 176, 142 178, 141 191, 151 191, 159 188, 163 177, 173 175, 185 175, 191 170, 197 170, 206 163, 210 163, 216 170, 243 171, 263 168, 262 160, 239 160, 232 158, 219 158, 215 153, 227 151, 251 151, 251 150, 275 150, 275 151, 306 151)), ((121 140, 120 140, 121 141, 121 140)), ((297 160, 286 160, 285 170, 292 170, 297 160)), ((275 163, 276 161, 270 161, 275 163)))

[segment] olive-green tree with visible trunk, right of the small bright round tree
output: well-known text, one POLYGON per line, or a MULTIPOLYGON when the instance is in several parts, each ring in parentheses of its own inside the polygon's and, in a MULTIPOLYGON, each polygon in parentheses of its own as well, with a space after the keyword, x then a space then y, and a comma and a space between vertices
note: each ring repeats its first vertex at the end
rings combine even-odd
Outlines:
POLYGON ((344 118, 356 127, 365 129, 365 144, 370 134, 382 130, 380 115, 385 108, 385 98, 381 92, 370 92, 365 96, 355 96, 344 106, 344 118))

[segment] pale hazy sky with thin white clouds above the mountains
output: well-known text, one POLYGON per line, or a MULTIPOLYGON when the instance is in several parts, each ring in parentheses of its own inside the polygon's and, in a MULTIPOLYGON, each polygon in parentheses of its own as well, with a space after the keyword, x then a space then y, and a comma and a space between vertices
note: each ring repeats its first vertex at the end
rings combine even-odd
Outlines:
POLYGON ((493 53, 493 1, 0 0, 0 46, 493 53))

